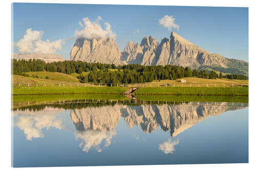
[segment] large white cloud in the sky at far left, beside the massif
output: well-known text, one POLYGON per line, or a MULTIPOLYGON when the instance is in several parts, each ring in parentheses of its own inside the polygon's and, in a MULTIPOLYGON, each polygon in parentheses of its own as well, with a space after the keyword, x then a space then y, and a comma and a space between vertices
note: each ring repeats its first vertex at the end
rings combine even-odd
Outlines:
POLYGON ((65 40, 41 40, 44 31, 33 31, 31 28, 27 29, 25 35, 16 44, 20 53, 44 53, 51 54, 57 50, 61 50, 61 46, 65 40))

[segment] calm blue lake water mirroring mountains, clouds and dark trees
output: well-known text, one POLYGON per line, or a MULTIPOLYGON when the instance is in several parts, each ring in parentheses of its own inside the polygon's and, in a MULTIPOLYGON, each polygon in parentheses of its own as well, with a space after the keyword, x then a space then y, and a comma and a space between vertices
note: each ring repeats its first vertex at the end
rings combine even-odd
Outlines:
POLYGON ((248 162, 248 104, 87 101, 18 107, 13 166, 248 162))

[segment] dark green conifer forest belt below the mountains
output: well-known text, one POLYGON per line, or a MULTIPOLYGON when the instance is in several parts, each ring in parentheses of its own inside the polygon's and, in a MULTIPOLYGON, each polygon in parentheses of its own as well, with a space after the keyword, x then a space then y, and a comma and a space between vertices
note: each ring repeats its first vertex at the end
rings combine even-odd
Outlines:
MULTIPOLYGON (((145 83, 153 80, 176 80, 185 77, 199 77, 204 79, 223 78, 222 73, 218 75, 214 70, 207 72, 204 69, 191 70, 189 67, 177 65, 152 65, 144 66, 138 64, 114 65, 102 63, 88 63, 83 61, 59 61, 46 63, 43 60, 16 60, 12 59, 13 74, 27 76, 30 71, 61 72, 63 74, 79 74, 81 82, 92 83, 145 83), (110 69, 115 69, 110 70, 110 69), (86 72, 84 74, 84 72, 86 72)), ((243 75, 225 75, 228 79, 248 79, 243 75)))

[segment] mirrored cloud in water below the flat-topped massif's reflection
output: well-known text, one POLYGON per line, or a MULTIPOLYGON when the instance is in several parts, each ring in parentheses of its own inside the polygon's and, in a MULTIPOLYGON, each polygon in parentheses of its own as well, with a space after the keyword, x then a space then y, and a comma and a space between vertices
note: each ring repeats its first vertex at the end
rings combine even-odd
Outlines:
POLYGON ((105 139, 104 147, 109 147, 111 144, 111 139, 116 135, 115 131, 83 131, 77 132, 75 134, 76 139, 81 138, 82 142, 79 144, 79 147, 82 148, 82 151, 89 152, 91 148, 94 148, 97 152, 101 152, 102 148, 100 143, 105 139))

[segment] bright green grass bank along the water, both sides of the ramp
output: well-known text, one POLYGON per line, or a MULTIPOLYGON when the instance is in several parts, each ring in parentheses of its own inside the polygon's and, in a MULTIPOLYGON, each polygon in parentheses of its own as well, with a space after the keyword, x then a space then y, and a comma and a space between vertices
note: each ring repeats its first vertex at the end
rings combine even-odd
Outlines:
MULTIPOLYGON (((13 87, 20 94, 123 94, 129 87, 13 87)), ((140 87, 135 94, 244 95, 248 87, 140 87)))

